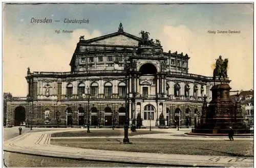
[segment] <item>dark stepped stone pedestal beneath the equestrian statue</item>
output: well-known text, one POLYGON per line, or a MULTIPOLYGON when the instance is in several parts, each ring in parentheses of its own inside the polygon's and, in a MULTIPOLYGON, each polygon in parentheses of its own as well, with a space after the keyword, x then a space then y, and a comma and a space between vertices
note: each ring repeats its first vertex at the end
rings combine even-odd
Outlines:
POLYGON ((211 88, 212 100, 207 107, 205 98, 201 123, 190 134, 227 134, 229 127, 232 127, 235 134, 250 133, 249 128, 243 124, 239 100, 232 101, 229 97, 230 89, 226 83, 211 88))

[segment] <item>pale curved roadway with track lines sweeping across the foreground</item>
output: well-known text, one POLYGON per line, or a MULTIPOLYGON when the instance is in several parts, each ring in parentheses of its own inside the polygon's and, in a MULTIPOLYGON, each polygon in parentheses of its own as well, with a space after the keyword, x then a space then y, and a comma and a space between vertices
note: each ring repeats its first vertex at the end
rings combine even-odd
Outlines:
POLYGON ((246 157, 173 155, 121 151, 104 151, 81 148, 60 147, 50 144, 51 133, 44 131, 26 133, 4 144, 4 151, 19 152, 40 156, 94 160, 105 162, 125 162, 162 166, 253 166, 253 159, 246 157))

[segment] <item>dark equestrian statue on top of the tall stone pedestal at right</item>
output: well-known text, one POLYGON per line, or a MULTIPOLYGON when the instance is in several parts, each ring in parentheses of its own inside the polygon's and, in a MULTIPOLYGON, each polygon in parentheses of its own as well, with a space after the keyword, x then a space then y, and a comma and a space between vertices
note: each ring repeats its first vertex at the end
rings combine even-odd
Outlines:
POLYGON ((224 61, 222 60, 222 57, 220 55, 219 59, 216 61, 216 68, 214 69, 214 85, 215 85, 215 79, 218 76, 219 80, 222 83, 222 78, 223 78, 223 83, 225 83, 227 76, 227 66, 228 66, 228 59, 225 59, 224 61), (221 78, 222 77, 222 78, 221 78))

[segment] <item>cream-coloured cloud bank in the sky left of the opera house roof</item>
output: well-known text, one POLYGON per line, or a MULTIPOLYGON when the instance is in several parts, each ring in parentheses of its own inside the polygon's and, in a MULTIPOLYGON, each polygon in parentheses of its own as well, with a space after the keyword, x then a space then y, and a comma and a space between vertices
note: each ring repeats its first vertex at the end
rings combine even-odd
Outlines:
POLYGON ((97 30, 75 30, 65 41, 64 45, 53 42, 52 38, 45 39, 45 43, 36 41, 25 44, 24 36, 4 35, 4 92, 11 92, 14 96, 27 95, 27 67, 33 71, 70 71, 69 63, 74 53, 80 35, 86 39, 101 36, 97 30))

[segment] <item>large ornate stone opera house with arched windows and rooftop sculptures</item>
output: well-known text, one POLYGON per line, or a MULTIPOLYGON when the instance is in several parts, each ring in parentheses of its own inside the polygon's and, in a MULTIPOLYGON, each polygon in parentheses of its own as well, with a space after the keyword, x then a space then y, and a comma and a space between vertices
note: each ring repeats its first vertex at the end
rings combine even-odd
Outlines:
POLYGON ((159 40, 140 34, 120 24, 112 34, 81 36, 70 72, 28 68, 27 96, 7 102, 7 125, 123 125, 127 91, 130 123, 141 117, 144 126, 194 126, 203 96, 211 100, 212 77, 188 73, 187 54, 163 52, 159 40))

